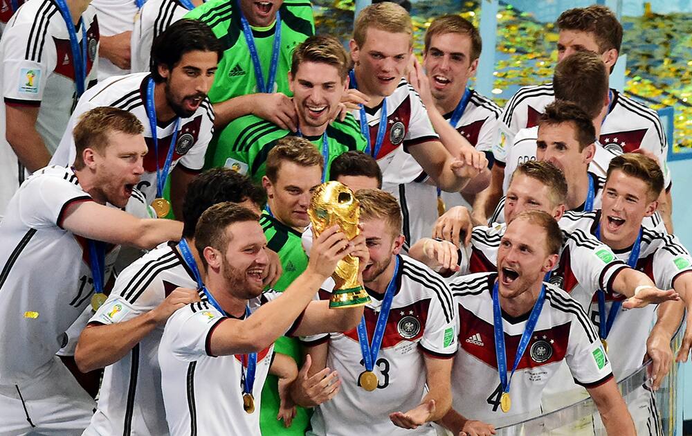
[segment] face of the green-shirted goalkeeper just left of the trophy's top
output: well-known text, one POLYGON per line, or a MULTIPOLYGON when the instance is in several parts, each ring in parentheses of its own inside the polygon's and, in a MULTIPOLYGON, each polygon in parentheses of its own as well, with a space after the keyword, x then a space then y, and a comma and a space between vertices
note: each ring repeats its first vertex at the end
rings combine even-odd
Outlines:
POLYGON ((312 191, 322 181, 322 169, 318 165, 302 166, 283 161, 277 171, 276 182, 267 176, 262 179, 269 208, 274 217, 286 226, 303 229, 310 224, 307 209, 312 191))

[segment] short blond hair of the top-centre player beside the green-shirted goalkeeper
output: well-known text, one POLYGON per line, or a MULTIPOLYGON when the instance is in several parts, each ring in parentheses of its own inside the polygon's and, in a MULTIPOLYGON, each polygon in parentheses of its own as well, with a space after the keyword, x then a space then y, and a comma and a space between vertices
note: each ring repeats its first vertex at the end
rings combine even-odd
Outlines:
POLYGON ((361 10, 353 26, 353 39, 359 47, 365 44, 367 29, 371 27, 390 33, 407 33, 410 44, 413 42, 411 16, 397 3, 385 1, 361 10))

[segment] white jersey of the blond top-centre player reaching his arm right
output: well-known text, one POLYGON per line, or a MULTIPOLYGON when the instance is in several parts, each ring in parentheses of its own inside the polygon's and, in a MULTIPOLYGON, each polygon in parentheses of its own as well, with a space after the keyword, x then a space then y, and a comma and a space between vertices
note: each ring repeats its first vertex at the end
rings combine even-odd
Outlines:
MULTIPOLYGON (((377 138, 377 129, 382 115, 382 104, 374 108, 365 108, 367 113, 367 125, 370 127, 370 143, 374 147, 377 138)), ((360 122, 361 113, 358 109, 351 111, 352 115, 360 122)), ((391 96, 387 96, 387 129, 382 140, 379 154, 375 156, 382 170, 383 185, 392 183, 409 183, 420 174, 418 169, 411 165, 415 159, 408 157, 406 147, 418 145, 428 140, 439 140, 439 136, 432 129, 428 112, 421 98, 413 87, 401 79, 399 86, 391 96)), ((372 149, 374 152, 374 149, 372 149)))

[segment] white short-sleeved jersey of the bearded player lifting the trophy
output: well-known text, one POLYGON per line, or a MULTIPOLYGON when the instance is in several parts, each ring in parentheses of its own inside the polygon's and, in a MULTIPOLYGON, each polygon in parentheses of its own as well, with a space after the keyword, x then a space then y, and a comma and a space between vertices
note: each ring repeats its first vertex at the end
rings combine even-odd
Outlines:
MULTIPOLYGON (((212 356, 212 331, 228 318, 200 293, 201 302, 176 311, 165 325, 158 362, 161 388, 171 436, 255 435, 260 436, 260 397, 271 365, 273 345, 257 353, 253 396, 255 411, 243 410, 242 356, 212 356)), ((276 298, 271 291, 251 302, 264 304, 276 298), (259 301, 257 301, 259 300, 259 301)), ((300 317, 286 331, 291 334, 300 317)))

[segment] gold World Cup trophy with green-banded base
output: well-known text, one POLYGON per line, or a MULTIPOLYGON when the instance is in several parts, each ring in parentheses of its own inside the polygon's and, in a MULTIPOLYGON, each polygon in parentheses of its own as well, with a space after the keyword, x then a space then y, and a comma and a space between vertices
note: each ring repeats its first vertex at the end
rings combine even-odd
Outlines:
MULTIPOLYGON (((358 200, 346 185, 338 181, 328 181, 317 187, 308 209, 314 237, 319 237, 325 229, 338 225, 350 240, 358 236, 358 217, 361 215, 358 200)), ((358 257, 345 256, 336 264, 334 276, 344 283, 335 288, 330 309, 367 305, 370 296, 358 282, 358 257)))

